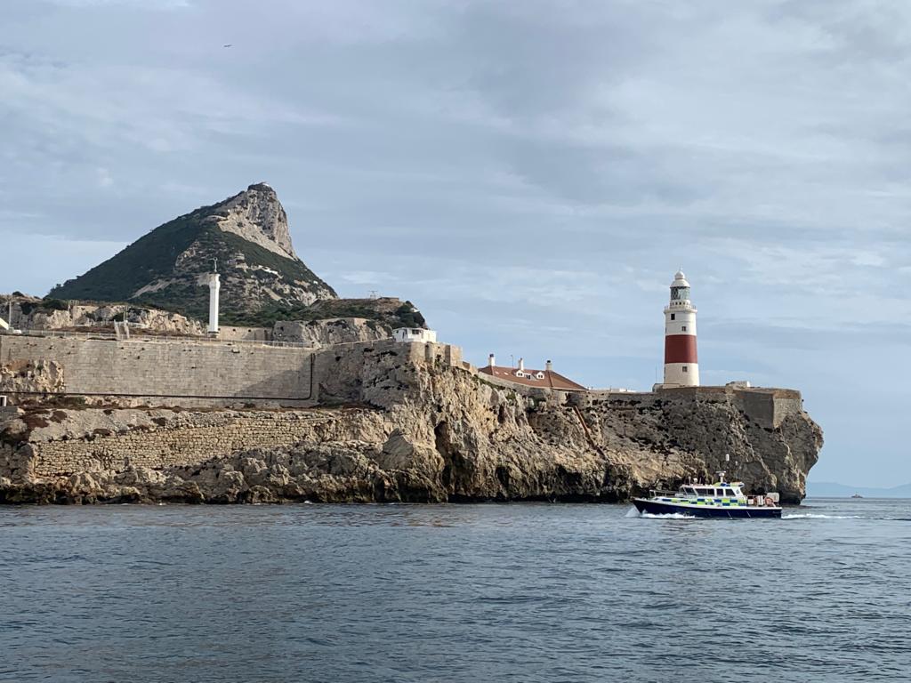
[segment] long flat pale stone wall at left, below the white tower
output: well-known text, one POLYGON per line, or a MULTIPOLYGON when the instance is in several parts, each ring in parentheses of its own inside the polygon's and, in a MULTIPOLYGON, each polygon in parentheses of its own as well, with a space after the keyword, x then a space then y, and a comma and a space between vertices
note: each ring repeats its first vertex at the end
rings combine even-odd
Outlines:
MULTIPOLYGON (((0 365, 55 362, 62 386, 35 392, 135 397, 152 404, 315 402, 313 353, 213 342, 0 336, 0 365)), ((0 392, 26 392, 0 387, 0 392)))

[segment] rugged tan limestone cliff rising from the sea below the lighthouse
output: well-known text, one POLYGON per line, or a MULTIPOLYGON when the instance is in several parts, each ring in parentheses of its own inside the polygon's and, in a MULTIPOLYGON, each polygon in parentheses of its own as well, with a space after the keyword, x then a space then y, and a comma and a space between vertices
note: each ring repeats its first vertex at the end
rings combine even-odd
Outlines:
POLYGON ((730 454, 795 503, 822 446, 796 392, 520 395, 447 348, 321 352, 312 410, 26 404, 0 428, 0 502, 616 502, 730 454))

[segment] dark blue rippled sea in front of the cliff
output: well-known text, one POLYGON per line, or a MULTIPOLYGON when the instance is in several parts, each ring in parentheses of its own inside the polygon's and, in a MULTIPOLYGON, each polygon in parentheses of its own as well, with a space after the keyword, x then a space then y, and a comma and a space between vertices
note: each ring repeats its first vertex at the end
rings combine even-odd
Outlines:
POLYGON ((911 501, 629 510, 0 507, 0 680, 911 679, 911 501))

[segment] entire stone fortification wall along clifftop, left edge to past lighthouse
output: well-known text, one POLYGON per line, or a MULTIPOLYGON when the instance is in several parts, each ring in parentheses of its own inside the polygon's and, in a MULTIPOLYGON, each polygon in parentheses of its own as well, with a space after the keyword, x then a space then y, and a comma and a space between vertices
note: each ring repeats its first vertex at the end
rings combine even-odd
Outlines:
POLYGON ((256 343, 198 340, 128 341, 87 336, 0 335, 0 392, 14 401, 30 394, 110 397, 123 404, 240 406, 387 403, 403 388, 377 369, 403 365, 458 368, 478 381, 515 392, 529 401, 548 399, 579 407, 667 402, 724 403, 763 428, 777 429, 803 413, 800 392, 786 389, 685 387, 658 392, 571 394, 526 387, 479 375, 462 361, 461 349, 435 342, 390 339, 340 343, 319 351, 256 343), (385 362, 378 362, 385 361, 385 362), (378 393, 379 392, 379 393, 378 393))

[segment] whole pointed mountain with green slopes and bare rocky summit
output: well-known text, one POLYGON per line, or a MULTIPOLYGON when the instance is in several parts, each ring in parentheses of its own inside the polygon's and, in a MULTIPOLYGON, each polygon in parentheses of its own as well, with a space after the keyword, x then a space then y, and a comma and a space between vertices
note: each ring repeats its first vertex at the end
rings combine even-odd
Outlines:
POLYGON ((294 252, 288 216, 265 183, 159 225, 50 296, 128 301, 204 319, 209 290, 200 276, 212 260, 221 273, 225 324, 268 324, 281 311, 337 298, 294 252))

